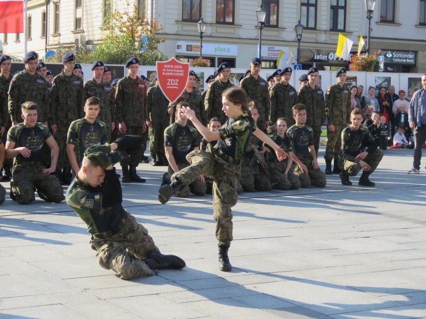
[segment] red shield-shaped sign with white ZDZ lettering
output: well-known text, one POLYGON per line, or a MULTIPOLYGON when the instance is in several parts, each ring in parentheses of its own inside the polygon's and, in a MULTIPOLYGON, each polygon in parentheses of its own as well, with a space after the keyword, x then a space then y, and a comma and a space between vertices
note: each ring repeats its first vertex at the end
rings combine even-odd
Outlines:
POLYGON ((189 75, 189 63, 171 59, 156 62, 158 85, 165 97, 173 103, 183 93, 189 75))

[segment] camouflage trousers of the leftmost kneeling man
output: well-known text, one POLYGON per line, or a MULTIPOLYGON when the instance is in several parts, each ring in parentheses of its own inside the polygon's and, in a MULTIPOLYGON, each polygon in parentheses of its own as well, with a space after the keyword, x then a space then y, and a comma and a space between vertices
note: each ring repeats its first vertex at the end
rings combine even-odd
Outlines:
POLYGON ((29 204, 33 200, 35 187, 42 200, 52 203, 63 201, 62 186, 54 175, 41 173, 43 168, 41 162, 13 163, 10 197, 19 204, 29 204))

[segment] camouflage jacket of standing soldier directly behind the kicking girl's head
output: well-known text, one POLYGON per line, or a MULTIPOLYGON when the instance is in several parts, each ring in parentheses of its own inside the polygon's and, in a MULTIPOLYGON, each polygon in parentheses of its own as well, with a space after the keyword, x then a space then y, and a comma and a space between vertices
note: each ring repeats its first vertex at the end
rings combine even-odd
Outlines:
POLYGON ((216 80, 211 83, 207 89, 204 98, 205 112, 207 113, 207 119, 210 120, 213 117, 220 119, 223 124, 226 119, 225 113, 222 111, 222 93, 228 87, 233 86, 231 81, 223 83, 220 80, 216 80))

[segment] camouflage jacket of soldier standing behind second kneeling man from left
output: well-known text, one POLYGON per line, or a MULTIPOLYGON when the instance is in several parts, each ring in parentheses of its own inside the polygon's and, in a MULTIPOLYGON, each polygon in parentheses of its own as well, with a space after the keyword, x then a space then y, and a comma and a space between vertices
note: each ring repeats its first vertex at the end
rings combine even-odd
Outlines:
POLYGON ((100 100, 100 110, 97 118, 109 128, 112 122, 117 122, 114 88, 106 81, 97 83, 93 78, 84 82, 83 103, 96 96, 100 100))

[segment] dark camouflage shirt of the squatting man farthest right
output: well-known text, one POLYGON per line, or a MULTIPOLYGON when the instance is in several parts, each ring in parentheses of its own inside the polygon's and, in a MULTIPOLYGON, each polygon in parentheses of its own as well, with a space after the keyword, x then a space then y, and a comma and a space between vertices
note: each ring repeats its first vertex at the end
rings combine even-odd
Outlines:
POLYGON ((365 125, 360 125, 355 131, 351 125, 341 131, 341 154, 343 159, 358 163, 356 156, 364 151, 372 154, 377 149, 374 137, 365 125))

